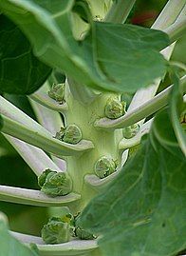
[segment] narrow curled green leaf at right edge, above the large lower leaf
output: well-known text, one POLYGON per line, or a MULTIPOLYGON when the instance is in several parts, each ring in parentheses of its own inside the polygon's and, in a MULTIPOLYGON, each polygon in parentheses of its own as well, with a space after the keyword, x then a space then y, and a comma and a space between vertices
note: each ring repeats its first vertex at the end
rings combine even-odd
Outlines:
POLYGON ((175 86, 172 91, 170 104, 173 128, 177 136, 178 144, 186 156, 186 102, 183 102, 177 76, 175 76, 175 86))

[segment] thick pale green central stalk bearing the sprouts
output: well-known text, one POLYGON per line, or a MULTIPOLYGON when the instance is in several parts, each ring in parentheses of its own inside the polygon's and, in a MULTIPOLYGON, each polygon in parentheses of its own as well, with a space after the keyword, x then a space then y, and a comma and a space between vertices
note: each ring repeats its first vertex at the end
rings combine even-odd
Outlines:
POLYGON ((78 202, 74 210, 82 210, 96 194, 93 188, 84 183, 86 174, 95 174, 96 161, 103 155, 110 156, 115 160, 119 159, 118 143, 122 137, 121 130, 102 131, 94 127, 95 120, 104 116, 105 104, 111 96, 113 94, 103 93, 94 102, 84 105, 75 100, 70 91, 66 89, 65 100, 68 110, 65 113, 65 123, 79 126, 84 138, 91 139, 95 146, 94 149, 81 156, 67 158, 67 171, 73 179, 73 190, 82 195, 81 201, 78 202))

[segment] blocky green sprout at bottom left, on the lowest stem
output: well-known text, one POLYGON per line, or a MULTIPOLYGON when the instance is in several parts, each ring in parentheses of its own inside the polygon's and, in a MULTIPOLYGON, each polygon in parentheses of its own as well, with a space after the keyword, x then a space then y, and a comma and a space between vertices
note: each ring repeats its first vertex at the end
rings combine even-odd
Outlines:
POLYGON ((69 224, 61 218, 52 217, 42 228, 42 238, 48 245, 62 244, 70 240, 69 224))

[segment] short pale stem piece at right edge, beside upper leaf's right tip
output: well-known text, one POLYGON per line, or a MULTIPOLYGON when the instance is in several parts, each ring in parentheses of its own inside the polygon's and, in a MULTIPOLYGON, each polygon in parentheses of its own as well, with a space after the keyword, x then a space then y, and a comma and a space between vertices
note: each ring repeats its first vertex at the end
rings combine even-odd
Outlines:
POLYGON ((164 30, 170 37, 171 42, 176 41, 186 32, 186 18, 177 19, 170 27, 164 30))

